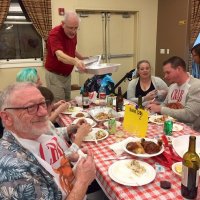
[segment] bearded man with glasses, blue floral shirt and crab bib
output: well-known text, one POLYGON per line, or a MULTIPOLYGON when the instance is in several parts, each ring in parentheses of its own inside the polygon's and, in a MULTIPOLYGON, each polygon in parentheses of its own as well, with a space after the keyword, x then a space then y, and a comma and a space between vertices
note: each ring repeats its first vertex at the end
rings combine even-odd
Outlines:
POLYGON ((91 152, 72 170, 66 143, 49 134, 45 98, 33 83, 15 83, 0 95, 5 127, 0 140, 0 198, 82 200, 95 178, 91 152))

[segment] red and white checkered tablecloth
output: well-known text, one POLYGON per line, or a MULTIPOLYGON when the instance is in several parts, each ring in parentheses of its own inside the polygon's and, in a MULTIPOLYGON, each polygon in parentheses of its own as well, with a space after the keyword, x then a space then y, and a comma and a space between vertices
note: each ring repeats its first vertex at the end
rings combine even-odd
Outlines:
MULTIPOLYGON (((68 126, 71 124, 73 119, 68 115, 60 115, 59 124, 62 126, 68 126)), ((183 125, 183 130, 179 132, 173 132, 173 136, 177 137, 180 135, 199 135, 190 127, 183 125)), ((156 135, 162 133, 162 126, 151 124, 148 125, 147 136, 149 138, 154 138, 156 135)), ((102 189, 106 193, 109 199, 112 200, 149 200, 149 199, 159 199, 159 200, 169 200, 183 199, 181 196, 181 177, 175 175, 172 170, 165 168, 165 172, 157 172, 156 178, 153 182, 143 186, 124 186, 114 182, 108 175, 109 166, 115 162, 115 160, 104 159, 111 156, 116 156, 115 153, 109 148, 110 144, 116 142, 114 135, 110 135, 105 140, 99 141, 98 144, 95 142, 84 142, 89 149, 91 149, 95 156, 95 163, 97 168, 97 181, 101 185, 102 189), (160 181, 167 180, 171 182, 171 189, 165 190, 160 187, 160 181)), ((127 154, 128 155, 128 154, 127 154)), ((130 157, 131 158, 131 157, 130 157)), ((140 158, 137 158, 140 159, 140 158)), ((152 158, 140 159, 143 160, 153 167, 155 167, 155 161, 152 158)), ((198 197, 200 200, 200 183, 198 188, 198 197)))

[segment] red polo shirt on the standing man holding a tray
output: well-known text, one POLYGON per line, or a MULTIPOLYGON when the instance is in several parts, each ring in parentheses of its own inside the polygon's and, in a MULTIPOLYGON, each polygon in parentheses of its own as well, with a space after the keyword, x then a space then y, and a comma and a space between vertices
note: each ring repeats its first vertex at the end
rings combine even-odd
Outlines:
POLYGON ((55 51, 62 50, 65 54, 75 57, 76 44, 77 37, 75 36, 73 39, 70 39, 65 35, 61 25, 53 28, 47 40, 45 68, 53 73, 68 76, 72 72, 74 66, 60 62, 55 55, 55 51))

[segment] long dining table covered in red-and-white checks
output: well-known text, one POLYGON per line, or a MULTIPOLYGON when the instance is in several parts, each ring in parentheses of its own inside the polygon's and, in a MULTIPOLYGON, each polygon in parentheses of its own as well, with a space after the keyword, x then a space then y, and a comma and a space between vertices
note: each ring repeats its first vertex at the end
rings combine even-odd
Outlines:
MULTIPOLYGON (((87 110, 85 110, 87 112, 87 110)), ((58 124, 60 126, 69 126, 74 121, 74 118, 68 114, 60 114, 58 118, 58 124)), ((123 117, 120 118, 123 124, 123 117)), ((182 135, 194 135, 198 136, 200 133, 196 132, 184 123, 176 122, 183 127, 180 131, 173 131, 172 137, 178 137, 182 135)), ((107 128, 102 123, 97 123, 97 127, 107 130, 107 128)), ((87 141, 83 142, 83 146, 89 148, 94 154, 94 160, 96 164, 96 181, 101 186, 102 190, 110 200, 149 200, 149 199, 159 199, 159 200, 170 200, 184 199, 181 195, 181 176, 175 174, 170 167, 162 166, 156 157, 141 158, 123 152, 124 159, 136 159, 139 161, 144 161, 151 165, 156 170, 156 176, 153 181, 145 185, 127 186, 115 182, 109 176, 109 167, 118 162, 118 157, 116 153, 110 148, 110 145, 120 142, 120 140, 126 139, 132 135, 123 130, 123 126, 119 127, 124 135, 119 138, 115 134, 108 135, 103 140, 98 142, 87 141), (113 158, 113 159, 109 159, 113 158), (115 159, 116 158, 116 159, 115 159), (171 184, 171 188, 164 189, 161 187, 162 181, 168 181, 171 184)), ((163 125, 158 125, 155 123, 148 123, 147 138, 157 138, 163 133, 163 125)), ((168 153, 169 151, 166 150, 168 153)), ((176 154, 176 152, 174 151, 176 154)), ((200 182, 198 187, 198 200, 200 200, 200 182)))

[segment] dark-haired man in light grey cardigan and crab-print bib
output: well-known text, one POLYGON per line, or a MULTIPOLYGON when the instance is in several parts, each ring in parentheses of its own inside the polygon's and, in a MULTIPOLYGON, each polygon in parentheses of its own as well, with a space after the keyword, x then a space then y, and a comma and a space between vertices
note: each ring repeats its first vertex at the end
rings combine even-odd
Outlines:
POLYGON ((163 71, 165 80, 171 84, 167 97, 162 105, 150 104, 147 107, 200 131, 200 80, 187 73, 185 61, 177 56, 163 63, 163 71), (173 103, 179 104, 180 109, 168 106, 173 103))

